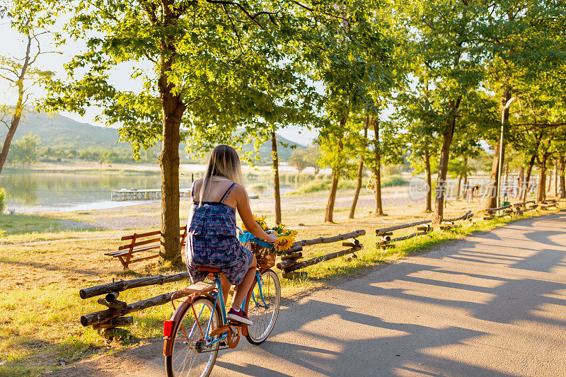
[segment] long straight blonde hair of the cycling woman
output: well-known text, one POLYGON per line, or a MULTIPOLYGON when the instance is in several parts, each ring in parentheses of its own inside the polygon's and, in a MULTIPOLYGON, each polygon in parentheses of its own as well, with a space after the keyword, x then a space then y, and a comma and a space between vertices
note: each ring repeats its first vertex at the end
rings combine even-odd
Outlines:
POLYGON ((202 204, 206 190, 210 188, 212 177, 223 177, 243 186, 242 166, 236 149, 220 144, 210 153, 207 172, 204 173, 202 187, 200 188, 199 206, 202 204))

